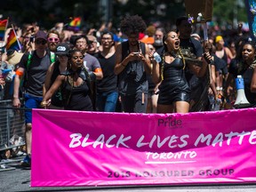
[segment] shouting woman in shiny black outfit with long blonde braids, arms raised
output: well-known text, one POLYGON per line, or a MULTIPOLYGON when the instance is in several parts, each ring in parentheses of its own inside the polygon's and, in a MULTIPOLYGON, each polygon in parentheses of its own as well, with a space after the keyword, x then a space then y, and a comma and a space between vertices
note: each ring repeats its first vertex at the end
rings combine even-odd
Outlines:
MULTIPOLYGON (((164 55, 162 63, 154 60, 153 53, 149 53, 149 59, 153 63, 153 80, 159 85, 159 97, 157 101, 157 113, 188 113, 190 101, 190 88, 185 76, 185 68, 193 71, 197 76, 200 73, 194 65, 185 61, 180 50, 180 38, 176 32, 170 31, 164 35, 164 55)), ((204 57, 210 60, 209 52, 204 57)), ((203 59, 203 69, 207 68, 203 59)))

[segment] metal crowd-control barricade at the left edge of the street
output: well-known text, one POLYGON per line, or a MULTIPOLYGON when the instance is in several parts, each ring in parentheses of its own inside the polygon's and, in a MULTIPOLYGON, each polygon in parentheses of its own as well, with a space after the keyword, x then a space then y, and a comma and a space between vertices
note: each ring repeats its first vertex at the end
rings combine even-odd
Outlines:
POLYGON ((0 100, 0 151, 25 145, 24 110, 13 109, 12 100, 0 100))

